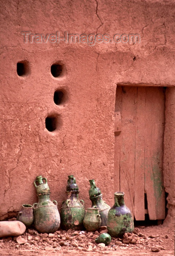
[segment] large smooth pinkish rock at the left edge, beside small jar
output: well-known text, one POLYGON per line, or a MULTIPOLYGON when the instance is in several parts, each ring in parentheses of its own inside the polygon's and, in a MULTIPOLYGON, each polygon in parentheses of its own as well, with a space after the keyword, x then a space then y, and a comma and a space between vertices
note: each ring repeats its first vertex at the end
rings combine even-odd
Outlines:
POLYGON ((0 221, 0 237, 20 236, 26 231, 26 226, 20 221, 0 221))

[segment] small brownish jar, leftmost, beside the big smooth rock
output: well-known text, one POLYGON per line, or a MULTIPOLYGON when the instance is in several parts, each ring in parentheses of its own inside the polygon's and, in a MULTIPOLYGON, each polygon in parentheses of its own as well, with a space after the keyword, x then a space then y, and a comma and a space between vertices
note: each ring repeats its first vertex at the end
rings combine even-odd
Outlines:
POLYGON ((23 204, 16 219, 23 222, 26 227, 30 227, 34 221, 33 206, 31 204, 23 204))

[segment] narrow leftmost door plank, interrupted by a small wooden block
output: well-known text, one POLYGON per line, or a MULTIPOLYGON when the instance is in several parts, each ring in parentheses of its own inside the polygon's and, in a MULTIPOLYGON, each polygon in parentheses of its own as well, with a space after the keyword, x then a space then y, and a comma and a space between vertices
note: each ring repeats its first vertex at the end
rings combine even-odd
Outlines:
MULTIPOLYGON (((121 86, 116 89, 115 112, 122 110, 122 92, 121 86)), ((122 131, 121 131, 122 132, 122 131)), ((114 136, 114 192, 120 191, 120 146, 121 133, 114 136)))

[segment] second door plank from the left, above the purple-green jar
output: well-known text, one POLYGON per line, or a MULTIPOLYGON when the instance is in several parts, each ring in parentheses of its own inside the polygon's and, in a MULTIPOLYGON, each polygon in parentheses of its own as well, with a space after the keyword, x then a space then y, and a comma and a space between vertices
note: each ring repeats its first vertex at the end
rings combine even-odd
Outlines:
POLYGON ((134 215, 134 173, 137 87, 122 87, 122 132, 120 152, 120 190, 134 215))

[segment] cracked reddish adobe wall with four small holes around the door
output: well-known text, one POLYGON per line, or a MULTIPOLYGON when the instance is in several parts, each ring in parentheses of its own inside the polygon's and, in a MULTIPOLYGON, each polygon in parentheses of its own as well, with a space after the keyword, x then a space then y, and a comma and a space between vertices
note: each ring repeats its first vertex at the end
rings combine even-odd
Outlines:
MULTIPOLYGON (((92 178, 112 206, 116 85, 175 85, 174 10, 174 1, 3 1, 1 220, 18 212, 23 203, 37 202, 33 181, 39 174, 48 178, 51 199, 58 201, 59 209, 69 174, 77 178, 79 198, 85 199, 86 207, 90 206, 88 180, 92 178), (111 37, 134 33, 140 34, 141 41, 94 46, 24 43, 21 31, 108 33, 111 37), (22 77, 16 73, 16 64, 23 60, 28 61, 30 71, 22 77), (64 72, 54 78, 50 67, 57 61, 64 72), (57 89, 65 93, 60 106, 53 101, 57 89), (58 118, 54 132, 45 128, 50 115, 58 118)), ((174 111, 174 106, 169 106, 166 132, 173 124, 174 111)), ((174 154, 168 155, 174 148, 173 126, 171 132, 164 160, 167 180, 174 172, 166 167, 167 158, 169 163, 175 161, 174 154)), ((173 179, 171 184, 175 185, 173 179)), ((165 180, 165 187, 172 207, 170 182, 165 180)))

